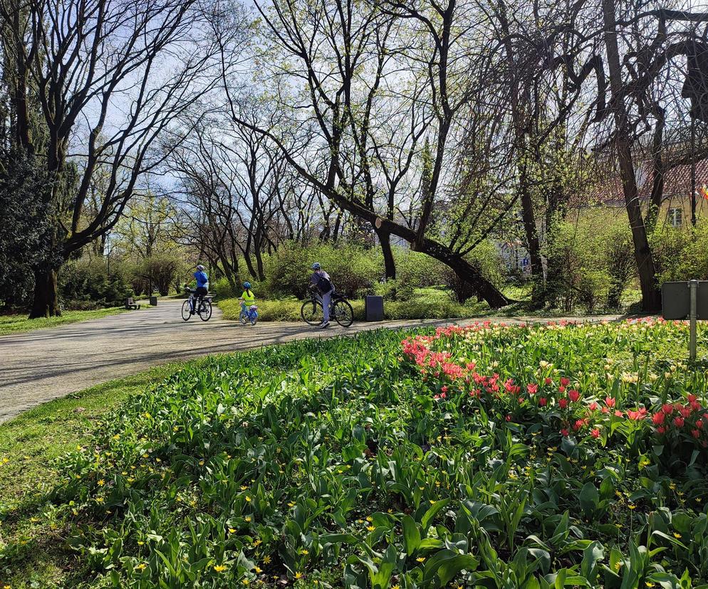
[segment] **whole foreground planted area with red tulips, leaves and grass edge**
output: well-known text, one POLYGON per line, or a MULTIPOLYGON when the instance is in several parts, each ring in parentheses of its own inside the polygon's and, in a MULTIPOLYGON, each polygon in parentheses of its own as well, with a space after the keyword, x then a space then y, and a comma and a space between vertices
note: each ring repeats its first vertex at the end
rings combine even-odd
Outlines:
POLYGON ((0 587, 706 589, 707 339, 380 330, 44 405, 0 427, 0 587))

